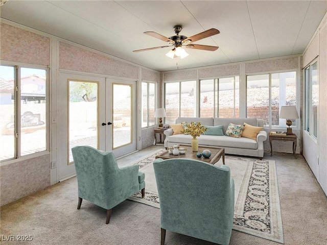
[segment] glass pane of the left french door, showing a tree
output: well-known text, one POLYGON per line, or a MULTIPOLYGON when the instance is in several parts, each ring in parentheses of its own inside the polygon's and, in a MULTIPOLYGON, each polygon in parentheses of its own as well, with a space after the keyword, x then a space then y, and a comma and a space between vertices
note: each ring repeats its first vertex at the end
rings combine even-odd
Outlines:
POLYGON ((98 83, 69 81, 68 96, 68 163, 71 163, 74 146, 89 145, 98 149, 98 83))

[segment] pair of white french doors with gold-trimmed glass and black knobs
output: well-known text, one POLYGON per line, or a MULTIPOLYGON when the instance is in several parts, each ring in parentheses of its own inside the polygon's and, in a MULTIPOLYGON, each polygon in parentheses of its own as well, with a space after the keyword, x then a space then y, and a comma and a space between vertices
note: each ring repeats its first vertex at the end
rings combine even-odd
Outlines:
POLYGON ((89 145, 115 157, 136 150, 135 81, 64 72, 59 76, 60 181, 75 176, 74 146, 89 145))

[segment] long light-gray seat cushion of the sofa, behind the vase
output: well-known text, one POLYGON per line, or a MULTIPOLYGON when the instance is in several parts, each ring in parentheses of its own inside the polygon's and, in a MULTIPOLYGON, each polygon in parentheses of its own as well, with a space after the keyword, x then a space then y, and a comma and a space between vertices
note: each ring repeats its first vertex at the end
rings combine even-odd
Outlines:
MULTIPOLYGON (((172 144, 191 144, 191 135, 176 134, 168 137, 168 141, 172 144)), ((208 146, 220 146, 228 148, 240 148, 240 149, 258 149, 258 142, 254 139, 249 138, 235 138, 228 136, 217 136, 217 135, 200 135, 197 137, 199 145, 208 146)), ((199 146, 200 147, 200 146, 199 146)))

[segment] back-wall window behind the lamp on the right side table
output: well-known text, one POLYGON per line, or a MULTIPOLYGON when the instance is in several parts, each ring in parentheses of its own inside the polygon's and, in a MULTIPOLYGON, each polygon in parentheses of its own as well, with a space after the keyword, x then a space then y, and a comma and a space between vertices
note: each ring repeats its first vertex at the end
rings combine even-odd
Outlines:
MULTIPOLYGON (((282 106, 296 106, 296 72, 280 72, 246 77, 247 117, 264 120, 267 127, 287 127, 279 118, 282 106)), ((292 122, 296 127, 296 120, 292 122)))

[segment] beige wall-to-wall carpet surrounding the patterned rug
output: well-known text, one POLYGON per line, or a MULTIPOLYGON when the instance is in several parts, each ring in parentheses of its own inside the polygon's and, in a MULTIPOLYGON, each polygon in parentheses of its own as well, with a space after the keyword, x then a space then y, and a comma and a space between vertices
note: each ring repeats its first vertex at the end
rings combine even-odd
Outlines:
MULTIPOLYGON (((119 159, 120 166, 143 159, 161 145, 152 145, 119 159)), ((327 244, 327 197, 301 155, 265 154, 274 160, 281 202, 284 244, 327 244)), ((228 163, 227 163, 228 164, 228 163)), ((2 181, 2 180, 1 180, 2 181)), ((1 183, 3 184, 3 183, 1 183)), ((77 210, 76 177, 37 191, 1 207, 0 238, 31 235, 33 240, 0 241, 2 245, 153 245, 160 244, 160 209, 126 200, 106 210, 83 201, 77 210)), ((165 245, 217 245, 194 237, 169 232, 165 245)), ((276 245, 275 241, 232 230, 230 245, 276 245)))

